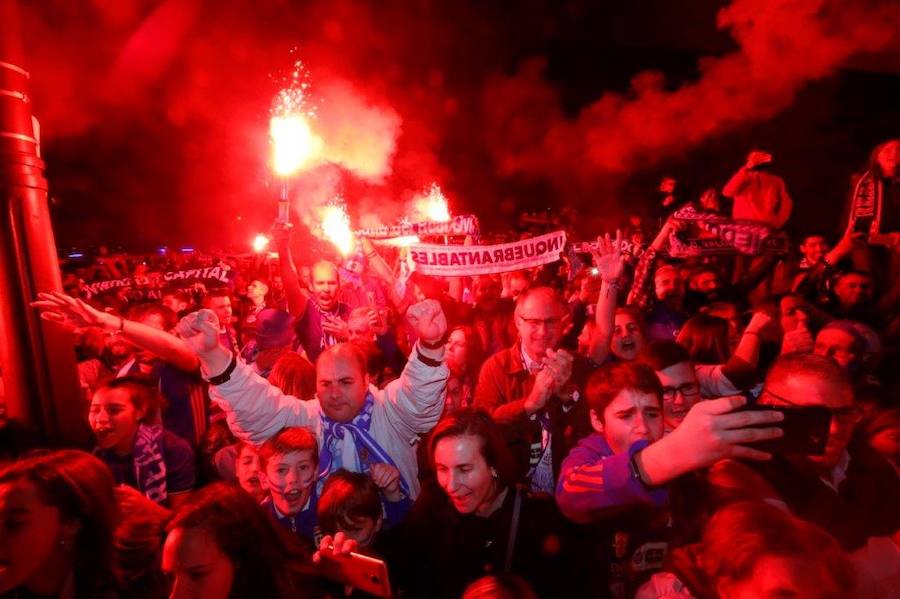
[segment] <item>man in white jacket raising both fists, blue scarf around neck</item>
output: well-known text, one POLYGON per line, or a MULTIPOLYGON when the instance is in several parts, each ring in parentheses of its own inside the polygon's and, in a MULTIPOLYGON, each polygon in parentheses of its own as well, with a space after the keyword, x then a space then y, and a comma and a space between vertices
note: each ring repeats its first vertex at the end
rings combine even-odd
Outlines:
POLYGON ((319 442, 320 472, 337 468, 368 472, 376 463, 395 466, 401 488, 419 491, 416 442, 440 418, 449 370, 444 363, 447 319, 426 300, 407 312, 419 341, 399 379, 383 390, 366 383, 365 356, 350 344, 326 349, 316 362, 316 399, 285 395, 219 344, 210 310, 186 316, 181 337, 196 352, 210 382, 210 397, 226 413, 234 434, 259 445, 286 426, 310 428, 319 442))

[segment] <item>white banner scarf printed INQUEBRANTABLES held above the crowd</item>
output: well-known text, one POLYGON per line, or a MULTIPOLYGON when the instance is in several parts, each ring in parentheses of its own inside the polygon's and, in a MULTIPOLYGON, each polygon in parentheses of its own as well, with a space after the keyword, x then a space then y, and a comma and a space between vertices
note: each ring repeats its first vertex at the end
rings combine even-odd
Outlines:
POLYGON ((433 245, 409 247, 411 268, 425 275, 461 277, 510 272, 559 260, 566 232, 496 245, 433 245))

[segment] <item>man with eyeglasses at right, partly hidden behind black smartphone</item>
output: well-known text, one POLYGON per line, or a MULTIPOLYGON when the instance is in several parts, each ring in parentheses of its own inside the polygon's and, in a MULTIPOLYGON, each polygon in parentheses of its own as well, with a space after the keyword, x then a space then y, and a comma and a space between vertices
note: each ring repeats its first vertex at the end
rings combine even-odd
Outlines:
POLYGON ((722 462, 710 474, 719 496, 756 497, 783 505, 829 531, 848 550, 866 545, 870 537, 898 538, 900 479, 863 443, 851 443, 861 413, 850 380, 837 362, 815 354, 778 358, 759 403, 827 408, 831 427, 825 452, 776 455, 753 465, 722 462))

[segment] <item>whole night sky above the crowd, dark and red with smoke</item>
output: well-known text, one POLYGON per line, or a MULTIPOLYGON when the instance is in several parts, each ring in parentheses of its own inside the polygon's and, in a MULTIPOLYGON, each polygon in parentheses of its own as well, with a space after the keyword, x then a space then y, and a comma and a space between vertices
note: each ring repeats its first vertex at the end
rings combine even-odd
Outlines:
POLYGON ((662 175, 693 197, 758 147, 795 230, 833 232, 900 134, 895 2, 20 4, 61 247, 245 246, 275 216, 269 107, 295 57, 323 126, 377 165, 309 175, 360 222, 434 181, 486 228, 571 205, 587 237, 662 175))

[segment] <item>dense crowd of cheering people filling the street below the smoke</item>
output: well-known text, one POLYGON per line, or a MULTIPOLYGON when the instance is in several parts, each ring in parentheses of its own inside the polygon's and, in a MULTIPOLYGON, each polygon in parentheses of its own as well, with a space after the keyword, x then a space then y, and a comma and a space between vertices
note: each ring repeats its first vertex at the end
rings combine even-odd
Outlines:
MULTIPOLYGON (((397 597, 900 596, 898 161, 787 254, 674 257, 710 232, 667 180, 655 231, 498 274, 313 262, 288 226, 274 267, 68 264, 34 307, 94 444, 0 409, 0 597, 365 596, 323 568, 352 554, 397 597)), ((692 209, 783 231, 771 165, 692 209)))

